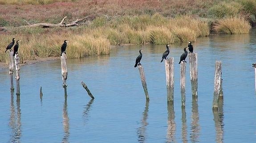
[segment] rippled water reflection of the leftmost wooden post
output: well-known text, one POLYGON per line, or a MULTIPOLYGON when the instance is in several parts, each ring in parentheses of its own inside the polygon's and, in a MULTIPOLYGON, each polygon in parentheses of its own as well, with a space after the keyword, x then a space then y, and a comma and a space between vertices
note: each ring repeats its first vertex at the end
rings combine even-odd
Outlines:
POLYGON ((14 107, 14 102, 13 102, 13 99, 14 99, 14 97, 13 97, 13 93, 14 93, 14 91, 13 90, 11 90, 11 103, 10 103, 10 122, 9 122, 9 126, 10 126, 10 128, 11 128, 11 130, 12 130, 12 132, 11 132, 11 135, 10 135, 10 137, 11 137, 11 139, 10 139, 10 143, 13 143, 13 142, 16 142, 15 141, 15 132, 16 132, 16 117, 15 117, 15 107, 14 107))

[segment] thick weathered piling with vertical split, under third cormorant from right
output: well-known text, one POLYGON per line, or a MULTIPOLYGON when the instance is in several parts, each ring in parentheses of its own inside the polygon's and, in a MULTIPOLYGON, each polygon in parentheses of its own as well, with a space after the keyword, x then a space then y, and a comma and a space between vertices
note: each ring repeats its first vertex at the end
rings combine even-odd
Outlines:
POLYGON ((174 58, 165 60, 166 85, 167 85, 167 101, 173 101, 174 95, 174 58))

